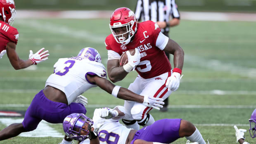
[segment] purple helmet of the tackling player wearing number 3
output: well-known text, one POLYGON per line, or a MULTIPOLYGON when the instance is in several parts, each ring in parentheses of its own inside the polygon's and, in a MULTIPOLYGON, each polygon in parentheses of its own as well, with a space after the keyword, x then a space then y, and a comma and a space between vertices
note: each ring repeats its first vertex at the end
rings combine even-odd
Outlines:
POLYGON ((86 57, 90 61, 96 61, 101 63, 101 57, 99 52, 92 48, 92 47, 85 47, 82 50, 80 50, 79 54, 77 56, 86 57))

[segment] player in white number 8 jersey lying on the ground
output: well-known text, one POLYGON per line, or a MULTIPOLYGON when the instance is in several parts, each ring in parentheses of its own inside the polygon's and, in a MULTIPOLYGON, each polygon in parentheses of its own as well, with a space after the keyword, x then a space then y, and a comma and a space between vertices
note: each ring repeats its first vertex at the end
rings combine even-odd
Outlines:
POLYGON ((188 139, 187 144, 206 144, 199 130, 187 120, 157 120, 137 131, 119 123, 125 114, 123 106, 95 109, 92 120, 83 113, 72 113, 64 119, 63 130, 71 139, 82 141, 80 144, 87 138, 90 144, 169 144, 181 137, 188 139))

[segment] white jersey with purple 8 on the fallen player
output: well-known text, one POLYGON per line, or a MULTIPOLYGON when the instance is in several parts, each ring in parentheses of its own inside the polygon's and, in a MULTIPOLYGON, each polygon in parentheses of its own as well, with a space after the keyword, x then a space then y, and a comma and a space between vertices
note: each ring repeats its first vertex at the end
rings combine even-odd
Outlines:
MULTIPOLYGON (((100 121, 101 109, 95 109, 92 120, 94 122, 100 121)), ((100 144, 125 144, 129 135, 130 128, 127 128, 119 120, 107 119, 99 130, 100 144)))

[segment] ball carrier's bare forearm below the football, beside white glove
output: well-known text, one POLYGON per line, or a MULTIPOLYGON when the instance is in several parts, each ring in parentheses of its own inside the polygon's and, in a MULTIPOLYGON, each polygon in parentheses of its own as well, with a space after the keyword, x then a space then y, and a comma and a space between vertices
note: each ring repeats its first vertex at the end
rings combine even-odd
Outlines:
POLYGON ((123 69, 123 66, 113 68, 109 73, 109 79, 116 83, 120 80, 123 80, 127 76, 127 72, 123 69))

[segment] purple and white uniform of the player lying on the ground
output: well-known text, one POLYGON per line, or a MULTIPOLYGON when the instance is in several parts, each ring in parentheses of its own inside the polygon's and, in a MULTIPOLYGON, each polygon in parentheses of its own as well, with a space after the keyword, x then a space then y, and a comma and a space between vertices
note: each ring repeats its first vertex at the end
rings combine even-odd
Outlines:
MULTIPOLYGON (((118 106, 118 108, 123 113, 126 113, 123 106, 118 106)), ((92 118, 94 123, 102 119, 100 117, 101 110, 102 109, 95 109, 92 118)), ((133 144, 136 139, 143 139, 148 142, 161 142, 164 144, 174 142, 176 139, 180 138, 180 121, 181 119, 157 120, 152 125, 138 130, 130 144, 133 144)), ((132 129, 119 123, 118 119, 107 119, 99 129, 98 136, 100 144, 125 144, 130 130, 132 129)), ((85 142, 81 142, 80 144, 85 144, 85 142)))

